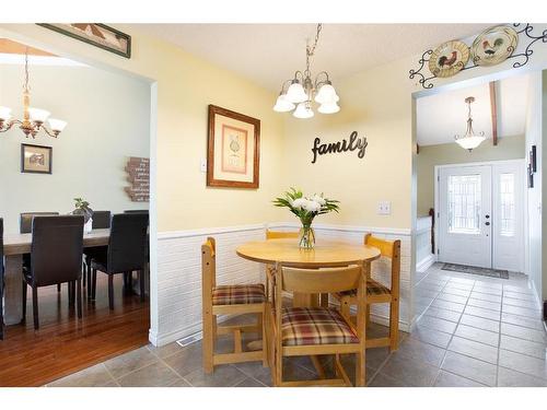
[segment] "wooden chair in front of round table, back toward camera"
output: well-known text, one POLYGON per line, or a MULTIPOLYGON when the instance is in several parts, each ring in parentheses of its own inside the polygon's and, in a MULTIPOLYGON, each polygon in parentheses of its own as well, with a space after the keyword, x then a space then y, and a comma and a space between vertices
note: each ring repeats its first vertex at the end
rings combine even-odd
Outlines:
POLYGON ((370 263, 328 269, 296 269, 276 266, 276 294, 281 292, 335 293, 357 289, 357 327, 349 316, 328 307, 282 307, 276 297, 270 311, 268 339, 272 339, 272 379, 275 386, 351 386, 340 363, 340 354, 353 353, 356 386, 365 385, 365 278, 370 263), (283 358, 335 355, 336 378, 283 382, 283 358))

